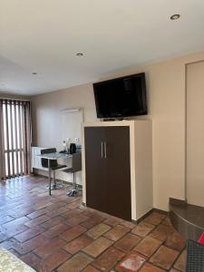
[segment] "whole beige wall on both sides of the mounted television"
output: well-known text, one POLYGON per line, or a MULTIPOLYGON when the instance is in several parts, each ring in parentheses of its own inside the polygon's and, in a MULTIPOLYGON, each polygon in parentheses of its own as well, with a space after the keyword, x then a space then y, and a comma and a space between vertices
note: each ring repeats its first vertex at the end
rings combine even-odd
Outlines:
MULTIPOLYGON (((112 75, 138 72, 147 75, 148 117, 152 119, 153 202, 157 209, 168 210, 170 197, 185 198, 185 64, 201 59, 204 52, 112 75)), ((64 108, 83 107, 84 120, 96 120, 91 83, 37 95, 32 101, 34 145, 61 149, 60 110, 64 108)))

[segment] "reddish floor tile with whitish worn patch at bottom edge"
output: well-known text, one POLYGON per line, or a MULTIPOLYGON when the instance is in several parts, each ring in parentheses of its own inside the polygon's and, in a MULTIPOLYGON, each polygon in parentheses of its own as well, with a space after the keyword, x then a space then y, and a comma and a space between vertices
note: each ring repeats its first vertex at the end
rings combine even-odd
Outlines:
POLYGON ((144 262, 145 257, 142 257, 137 252, 132 252, 121 260, 121 262, 116 266, 116 271, 119 272, 138 271, 144 262))

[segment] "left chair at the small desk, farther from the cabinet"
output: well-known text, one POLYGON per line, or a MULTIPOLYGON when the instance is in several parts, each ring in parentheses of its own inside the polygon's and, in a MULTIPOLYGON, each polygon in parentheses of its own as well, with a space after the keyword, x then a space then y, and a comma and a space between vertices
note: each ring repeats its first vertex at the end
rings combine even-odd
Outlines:
MULTIPOLYGON (((52 149, 44 149, 41 150, 41 154, 49 154, 49 153, 55 153, 56 149, 52 148, 52 149)), ((48 159, 41 159, 41 164, 44 168, 48 168, 48 159)), ((52 189, 57 189, 57 184, 55 181, 55 170, 59 170, 62 169, 64 167, 67 167, 66 165, 63 164, 58 164, 57 160, 50 160, 50 169, 53 171, 53 185, 52 185, 52 189)))

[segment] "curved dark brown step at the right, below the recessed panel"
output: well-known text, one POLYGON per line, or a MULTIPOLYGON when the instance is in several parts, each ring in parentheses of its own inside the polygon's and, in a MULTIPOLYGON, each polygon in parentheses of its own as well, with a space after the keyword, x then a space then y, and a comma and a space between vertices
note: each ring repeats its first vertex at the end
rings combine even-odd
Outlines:
POLYGON ((204 232, 204 208, 170 199, 170 221, 183 237, 198 240, 204 232))

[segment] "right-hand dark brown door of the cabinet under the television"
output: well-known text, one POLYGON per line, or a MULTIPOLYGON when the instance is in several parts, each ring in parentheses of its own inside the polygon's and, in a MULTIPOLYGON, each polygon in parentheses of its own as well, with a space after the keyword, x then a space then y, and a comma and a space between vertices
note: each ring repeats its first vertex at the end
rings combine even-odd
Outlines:
POLYGON ((107 213, 131 220, 130 128, 106 127, 107 213))

